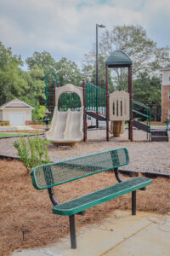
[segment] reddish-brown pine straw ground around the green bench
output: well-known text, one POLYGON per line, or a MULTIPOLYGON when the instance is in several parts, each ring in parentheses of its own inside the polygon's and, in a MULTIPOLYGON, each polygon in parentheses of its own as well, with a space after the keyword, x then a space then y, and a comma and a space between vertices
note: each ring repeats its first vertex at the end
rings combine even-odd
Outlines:
MULTIPOLYGON (((48 245, 68 235, 68 218, 52 213, 48 192, 33 188, 30 175, 19 161, 0 160, 0 174, 0 255, 18 248, 48 245)), ((59 202, 63 202, 112 183, 117 183, 113 173, 104 172, 65 183, 54 190, 59 202)), ((76 216, 77 230, 84 224, 101 222, 115 209, 131 209, 131 195, 92 207, 83 217, 76 216)), ((170 179, 157 177, 145 191, 139 190, 137 210, 170 212, 170 179)))

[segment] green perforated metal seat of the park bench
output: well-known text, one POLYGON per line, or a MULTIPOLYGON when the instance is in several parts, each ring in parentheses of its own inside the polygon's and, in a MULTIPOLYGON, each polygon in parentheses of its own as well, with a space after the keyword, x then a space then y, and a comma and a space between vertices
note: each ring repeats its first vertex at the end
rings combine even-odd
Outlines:
POLYGON ((137 189, 142 189, 151 184, 147 177, 134 177, 122 183, 116 183, 108 188, 100 189, 88 195, 83 195, 71 201, 53 207, 53 213, 58 215, 73 215, 94 207, 105 201, 110 201, 120 195, 125 195, 137 189))

